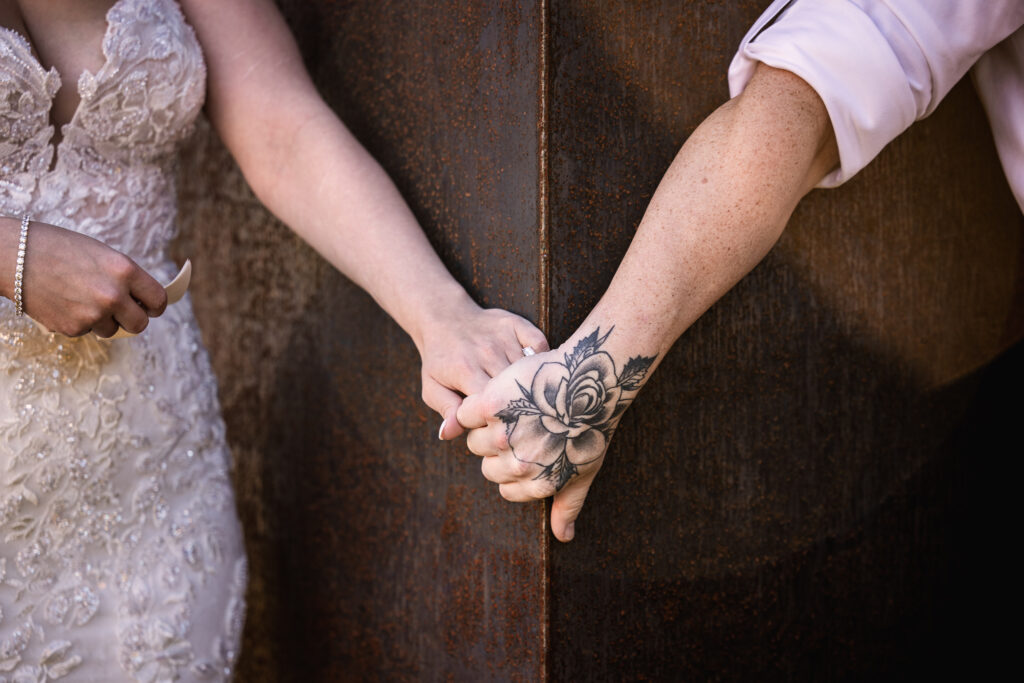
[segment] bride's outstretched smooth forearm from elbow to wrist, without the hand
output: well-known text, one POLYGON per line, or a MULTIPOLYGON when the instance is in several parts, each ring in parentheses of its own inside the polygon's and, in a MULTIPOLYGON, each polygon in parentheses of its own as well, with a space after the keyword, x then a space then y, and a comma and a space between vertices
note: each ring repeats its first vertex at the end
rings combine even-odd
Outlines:
POLYGON ((365 289, 422 350, 423 328, 475 307, 394 183, 322 102, 243 166, 259 199, 365 289))

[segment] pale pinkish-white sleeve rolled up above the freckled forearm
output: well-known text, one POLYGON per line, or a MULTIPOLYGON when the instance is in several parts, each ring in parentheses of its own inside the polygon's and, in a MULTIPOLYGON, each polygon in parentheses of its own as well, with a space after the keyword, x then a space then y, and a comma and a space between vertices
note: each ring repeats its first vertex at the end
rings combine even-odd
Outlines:
POLYGON ((990 47, 1024 24, 1022 0, 777 0, 729 67, 739 94, 757 62, 790 71, 821 97, 839 144, 838 185, 931 114, 990 47))

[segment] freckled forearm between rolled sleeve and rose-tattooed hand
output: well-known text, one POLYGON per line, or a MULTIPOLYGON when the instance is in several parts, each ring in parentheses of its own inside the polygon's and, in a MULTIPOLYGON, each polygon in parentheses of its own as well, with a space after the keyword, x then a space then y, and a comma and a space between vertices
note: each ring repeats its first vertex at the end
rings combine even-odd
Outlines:
POLYGON ((608 351, 665 352, 778 240, 838 163, 824 105, 802 80, 759 69, 709 117, 657 187, 615 275, 566 345, 615 326, 608 351))

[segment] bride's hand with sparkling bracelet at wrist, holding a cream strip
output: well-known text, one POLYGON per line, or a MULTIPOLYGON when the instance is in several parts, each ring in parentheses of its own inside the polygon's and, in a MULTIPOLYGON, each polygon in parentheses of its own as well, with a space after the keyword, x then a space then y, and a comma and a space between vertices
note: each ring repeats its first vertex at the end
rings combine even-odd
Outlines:
MULTIPOLYGON (((13 295, 20 221, 0 219, 0 293, 13 295)), ((33 221, 23 285, 25 312, 69 337, 118 327, 137 334, 164 312, 164 288, 134 261, 90 237, 33 221)))

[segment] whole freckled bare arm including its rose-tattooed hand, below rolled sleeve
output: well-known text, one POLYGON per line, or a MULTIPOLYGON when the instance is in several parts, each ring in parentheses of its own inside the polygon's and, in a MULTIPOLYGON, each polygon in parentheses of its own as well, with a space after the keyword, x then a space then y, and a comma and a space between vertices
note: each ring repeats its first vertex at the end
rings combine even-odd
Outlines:
POLYGON ((683 145, 579 330, 460 409, 462 424, 478 428, 468 444, 484 456, 484 476, 509 500, 554 495, 552 529, 570 540, 623 411, 676 339, 764 258, 800 199, 838 162, 817 94, 793 74, 760 66, 746 90, 683 145))

